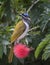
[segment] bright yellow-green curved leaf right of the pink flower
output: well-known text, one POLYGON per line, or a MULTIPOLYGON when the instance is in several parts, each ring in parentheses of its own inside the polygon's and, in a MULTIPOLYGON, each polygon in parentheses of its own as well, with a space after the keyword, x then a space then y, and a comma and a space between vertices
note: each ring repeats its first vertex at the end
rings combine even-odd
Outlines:
POLYGON ((44 38, 40 44, 37 46, 36 50, 35 50, 35 58, 37 59, 39 54, 41 53, 42 49, 45 47, 45 45, 48 44, 48 42, 50 41, 50 34, 48 34, 46 36, 46 38, 44 38))

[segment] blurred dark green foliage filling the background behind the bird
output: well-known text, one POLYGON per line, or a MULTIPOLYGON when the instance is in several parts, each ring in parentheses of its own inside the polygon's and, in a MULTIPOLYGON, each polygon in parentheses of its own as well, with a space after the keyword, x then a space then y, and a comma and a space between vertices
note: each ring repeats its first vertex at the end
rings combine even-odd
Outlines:
POLYGON ((49 65, 50 64, 50 0, 39 0, 29 12, 31 18, 28 36, 23 42, 35 48, 22 63, 16 57, 8 63, 8 44, 15 24, 21 19, 17 12, 28 10, 36 0, 0 0, 0 65, 49 65), (27 40, 27 41, 26 41, 27 40), (3 49, 7 48, 7 55, 3 49))

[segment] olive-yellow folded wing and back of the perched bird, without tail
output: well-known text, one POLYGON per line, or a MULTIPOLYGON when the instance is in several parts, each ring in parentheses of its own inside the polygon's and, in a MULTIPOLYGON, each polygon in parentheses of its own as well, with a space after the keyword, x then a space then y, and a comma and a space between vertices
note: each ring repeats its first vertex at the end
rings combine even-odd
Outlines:
POLYGON ((23 32, 25 31, 25 28, 26 28, 26 26, 22 20, 16 24, 14 32, 11 36, 11 43, 13 43, 15 40, 18 39, 18 37, 21 36, 21 34, 23 34, 23 32))

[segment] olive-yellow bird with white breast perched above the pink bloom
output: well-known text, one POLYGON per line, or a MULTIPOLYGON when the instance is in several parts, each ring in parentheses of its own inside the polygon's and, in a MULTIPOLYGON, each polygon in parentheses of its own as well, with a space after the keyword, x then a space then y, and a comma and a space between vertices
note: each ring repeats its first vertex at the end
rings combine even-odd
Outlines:
POLYGON ((9 63, 12 62, 13 58, 13 43, 14 44, 19 43, 20 40, 22 40, 26 36, 29 30, 29 24, 31 19, 28 13, 22 13, 20 14, 20 16, 22 17, 22 19, 16 24, 14 31, 11 35, 11 48, 8 56, 9 63))

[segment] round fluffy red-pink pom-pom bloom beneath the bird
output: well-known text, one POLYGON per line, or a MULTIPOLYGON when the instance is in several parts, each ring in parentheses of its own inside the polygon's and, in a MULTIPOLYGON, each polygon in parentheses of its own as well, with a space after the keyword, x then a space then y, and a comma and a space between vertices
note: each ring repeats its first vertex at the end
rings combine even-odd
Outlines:
POLYGON ((16 44, 14 46, 14 55, 17 58, 26 58, 30 53, 30 48, 28 48, 25 44, 16 44))

